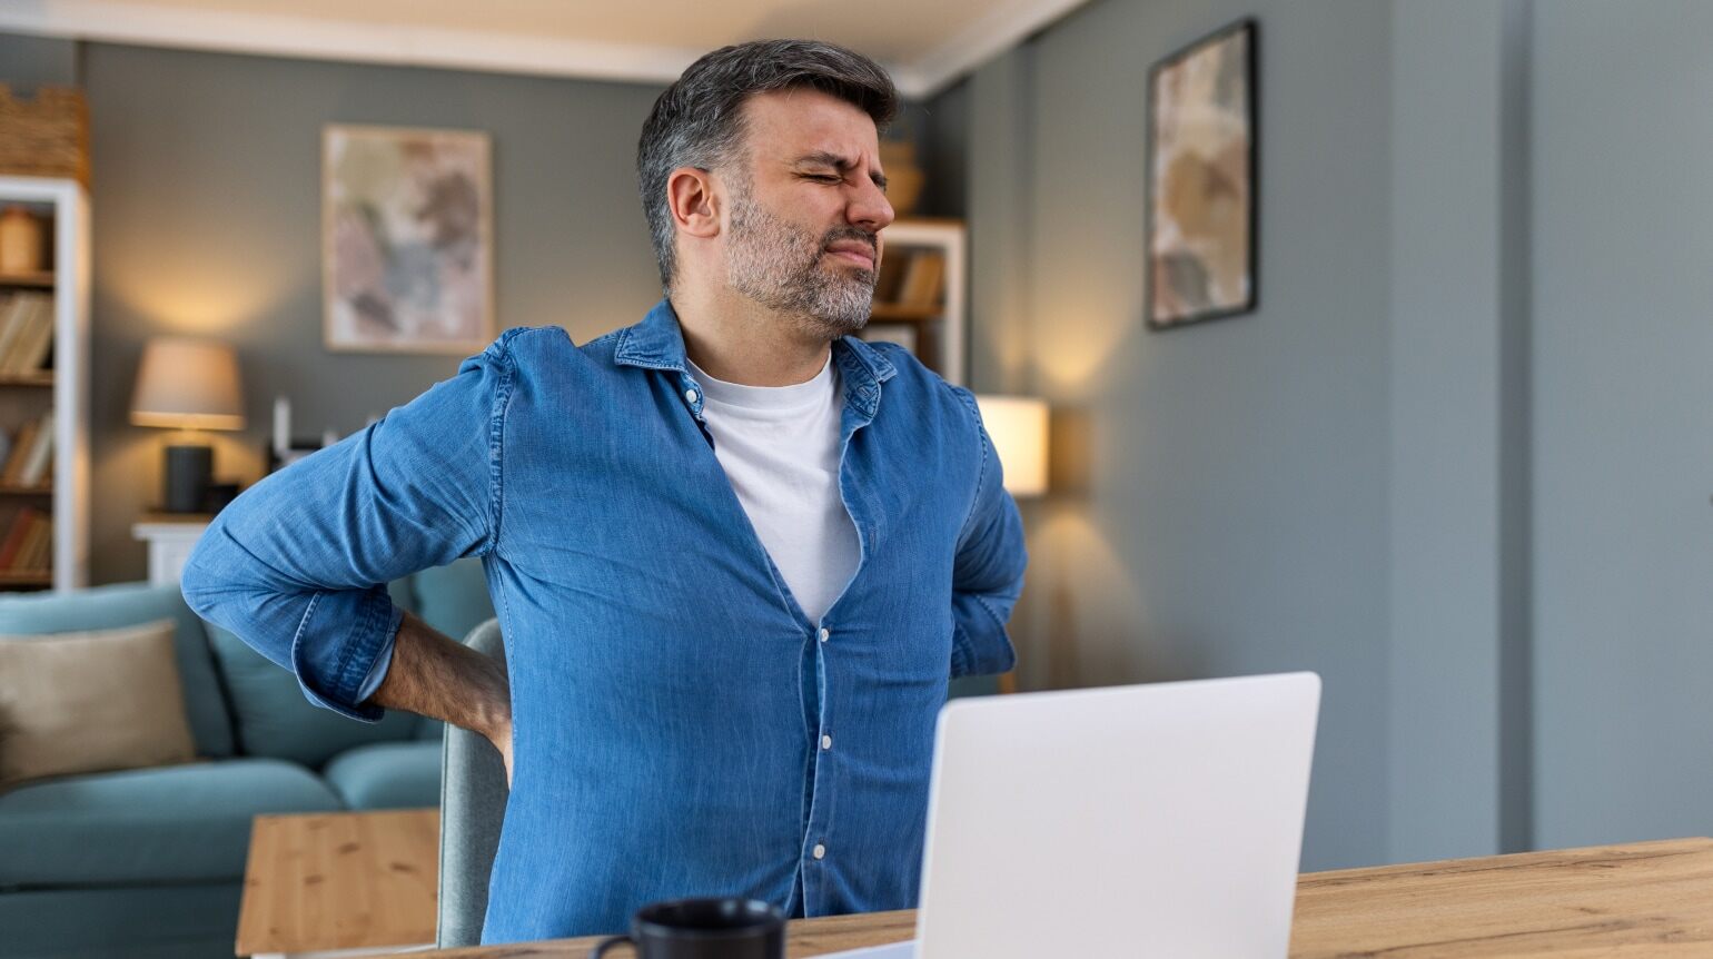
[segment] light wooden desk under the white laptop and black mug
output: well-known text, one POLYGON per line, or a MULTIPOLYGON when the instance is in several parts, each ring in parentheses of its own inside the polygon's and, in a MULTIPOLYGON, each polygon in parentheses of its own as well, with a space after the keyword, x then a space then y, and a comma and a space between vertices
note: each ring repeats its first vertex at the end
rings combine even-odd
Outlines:
MULTIPOLYGON (((901 942, 911 911, 797 920, 790 959, 901 942)), ((411 959, 582 959, 596 938, 411 959)), ((1670 839, 1304 875, 1293 959, 1713 956, 1713 839, 1670 839)), ((615 952, 629 956, 629 952, 615 952)))

